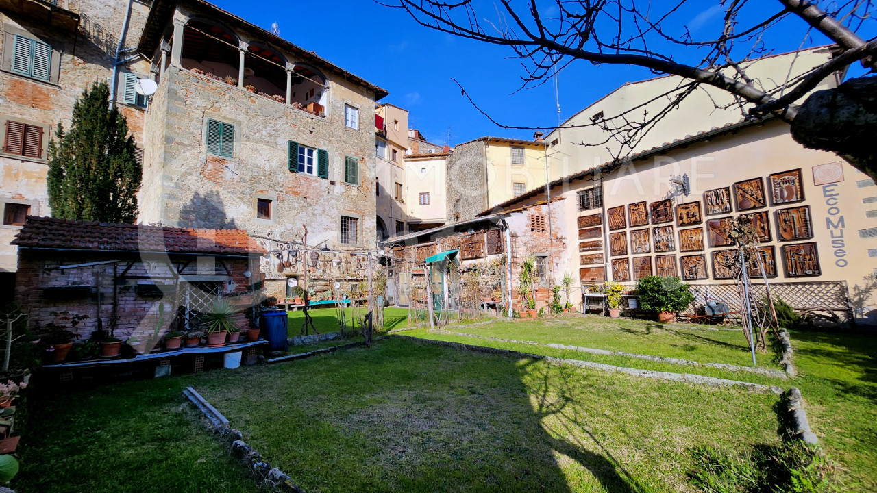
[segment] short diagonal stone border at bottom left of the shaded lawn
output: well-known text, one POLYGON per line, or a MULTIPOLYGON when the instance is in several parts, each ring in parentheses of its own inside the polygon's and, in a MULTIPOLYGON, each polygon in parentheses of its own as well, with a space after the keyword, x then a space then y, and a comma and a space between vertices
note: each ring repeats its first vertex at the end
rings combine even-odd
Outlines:
POLYGON ((281 492, 305 493, 303 489, 296 486, 289 475, 283 473, 278 468, 272 468, 271 463, 266 461, 261 454, 256 452, 253 447, 246 444, 243 436, 238 430, 229 425, 228 419, 225 418, 215 407, 210 405, 195 389, 186 387, 182 394, 195 404, 200 410, 204 418, 210 421, 217 435, 222 440, 223 445, 228 448, 241 464, 244 465, 250 474, 268 489, 281 492))

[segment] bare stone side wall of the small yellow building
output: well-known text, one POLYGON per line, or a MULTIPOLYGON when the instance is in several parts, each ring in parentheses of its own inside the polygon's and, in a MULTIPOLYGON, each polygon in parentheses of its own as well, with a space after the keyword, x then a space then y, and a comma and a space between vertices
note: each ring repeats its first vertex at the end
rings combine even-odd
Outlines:
POLYGON ((481 140, 454 148, 447 160, 446 208, 447 222, 456 223, 475 217, 487 209, 487 178, 481 140))

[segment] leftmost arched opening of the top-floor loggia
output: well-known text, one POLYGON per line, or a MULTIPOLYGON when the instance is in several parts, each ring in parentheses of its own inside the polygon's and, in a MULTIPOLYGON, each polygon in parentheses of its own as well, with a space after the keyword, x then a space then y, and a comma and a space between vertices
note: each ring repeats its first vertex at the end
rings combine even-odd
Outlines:
POLYGON ((183 28, 182 68, 238 85, 238 37, 225 27, 192 19, 183 28))

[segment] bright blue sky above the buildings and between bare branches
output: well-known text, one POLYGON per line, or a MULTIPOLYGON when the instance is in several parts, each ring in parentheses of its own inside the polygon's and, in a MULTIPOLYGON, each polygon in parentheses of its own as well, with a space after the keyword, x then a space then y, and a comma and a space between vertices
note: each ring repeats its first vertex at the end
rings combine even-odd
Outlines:
MULTIPOLYGON (((449 131, 452 145, 484 135, 532 137, 532 131, 496 127, 460 95, 452 78, 460 81, 493 118, 506 125, 558 123, 553 84, 512 94, 520 87, 524 70, 510 48, 432 31, 417 25, 404 11, 371 0, 324 2, 327 7, 324 10, 315 10, 312 3, 289 0, 214 0, 214 3, 265 29, 277 23, 283 38, 388 89, 390 95, 382 101, 409 110, 410 126, 433 142, 445 143, 449 131)), ((544 15, 553 13, 553 3, 541 3, 545 4, 544 15)), ((653 0, 652 6, 657 10, 667 3, 653 0)), ((485 5, 481 11, 485 17, 493 12, 496 18, 492 3, 481 4, 485 5)), ((779 11, 779 3, 771 0, 753 4, 757 5, 751 12, 752 18, 763 17, 764 9, 769 14, 779 11)), ((722 10, 716 1, 697 0, 695 6, 680 11, 678 18, 695 36, 709 36, 720 27, 722 10)), ((874 24, 860 34, 866 39, 873 37, 877 34, 874 24)), ((802 41, 804 46, 828 42, 821 34, 805 38, 805 33, 802 21, 788 19, 766 37, 766 46, 774 49, 774 53, 782 53, 795 50, 802 41)), ((674 53, 674 58, 692 61, 702 57, 688 48, 683 50, 674 53)), ((569 118, 624 82, 652 76, 644 68, 594 67, 574 62, 560 72, 560 116, 569 118)))

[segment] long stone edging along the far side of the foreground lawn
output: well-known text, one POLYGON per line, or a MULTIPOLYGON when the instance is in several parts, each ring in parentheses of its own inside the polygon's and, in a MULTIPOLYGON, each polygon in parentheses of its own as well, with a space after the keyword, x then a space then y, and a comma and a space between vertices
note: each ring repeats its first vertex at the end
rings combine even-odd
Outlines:
POLYGON ((412 337, 408 335, 396 334, 393 337, 404 338, 404 339, 412 339, 418 343, 427 343, 433 344, 437 346, 445 346, 445 347, 453 347, 455 349, 463 349, 467 351, 472 351, 474 353, 486 353, 486 354, 503 354, 505 356, 513 356, 516 358, 531 358, 534 360, 542 360, 547 361, 552 364, 558 365, 569 365, 580 368, 595 368, 602 371, 607 372, 617 372, 624 373, 627 375, 641 376, 645 378, 653 378, 659 380, 668 380, 671 382, 687 382, 687 383, 698 383, 701 385, 709 385, 710 387, 742 387, 744 389, 764 392, 764 393, 774 393, 776 395, 780 395, 783 392, 781 387, 776 386, 767 386, 762 385, 760 383, 752 383, 752 382, 740 382, 738 380, 728 380, 725 378, 716 378, 713 376, 702 376, 702 375, 692 375, 688 373, 670 373, 665 371, 652 371, 652 370, 643 370, 638 368, 626 368, 626 367, 617 367, 615 365, 607 365, 604 363, 594 363, 591 361, 581 361, 581 360, 569 360, 565 358, 554 358, 553 356, 545 356, 542 354, 530 354, 530 353, 521 353, 519 351, 512 351, 510 349, 499 349, 496 347, 484 347, 484 346, 471 346, 468 344, 462 344, 460 342, 449 342, 446 340, 435 340, 435 339, 420 339, 417 337, 412 337))

